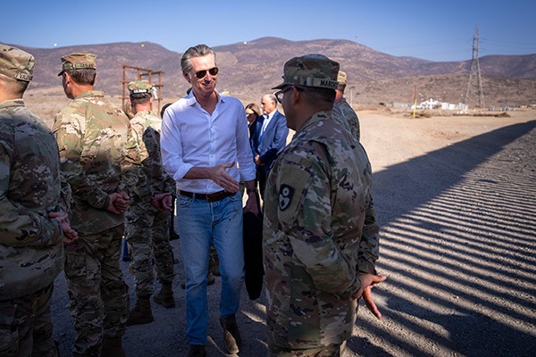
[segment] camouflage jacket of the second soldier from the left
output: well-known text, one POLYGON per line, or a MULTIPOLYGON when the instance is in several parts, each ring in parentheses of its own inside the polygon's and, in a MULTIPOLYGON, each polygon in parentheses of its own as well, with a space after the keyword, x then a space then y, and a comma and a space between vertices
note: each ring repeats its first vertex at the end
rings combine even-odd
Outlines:
POLYGON ((78 95, 54 117, 63 176, 72 189, 71 227, 89 235, 123 223, 108 195, 138 181, 139 148, 129 118, 101 91, 78 95))

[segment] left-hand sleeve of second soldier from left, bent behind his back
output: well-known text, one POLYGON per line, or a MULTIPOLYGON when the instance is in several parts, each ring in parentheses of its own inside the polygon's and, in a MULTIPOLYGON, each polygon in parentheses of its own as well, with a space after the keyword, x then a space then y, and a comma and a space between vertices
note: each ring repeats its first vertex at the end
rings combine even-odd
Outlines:
POLYGON ((79 112, 59 112, 54 117, 52 132, 60 150, 63 177, 71 186, 73 195, 93 207, 105 209, 108 205, 108 194, 88 178, 80 162, 83 126, 85 117, 79 112))

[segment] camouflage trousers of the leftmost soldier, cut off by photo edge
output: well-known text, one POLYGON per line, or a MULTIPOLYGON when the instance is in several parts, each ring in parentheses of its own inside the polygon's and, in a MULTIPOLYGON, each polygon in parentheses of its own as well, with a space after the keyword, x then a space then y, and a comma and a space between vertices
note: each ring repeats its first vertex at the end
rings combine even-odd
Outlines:
POLYGON ((0 301, 0 356, 57 357, 50 300, 53 284, 36 293, 0 301))

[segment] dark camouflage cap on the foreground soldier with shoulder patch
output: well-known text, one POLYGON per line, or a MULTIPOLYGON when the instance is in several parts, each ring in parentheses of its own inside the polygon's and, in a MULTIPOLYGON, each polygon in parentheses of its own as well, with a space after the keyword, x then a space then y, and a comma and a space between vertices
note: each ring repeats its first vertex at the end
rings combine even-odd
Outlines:
POLYGON ((287 86, 303 86, 337 89, 339 63, 330 60, 323 54, 306 54, 294 57, 285 63, 283 83, 272 89, 287 86))

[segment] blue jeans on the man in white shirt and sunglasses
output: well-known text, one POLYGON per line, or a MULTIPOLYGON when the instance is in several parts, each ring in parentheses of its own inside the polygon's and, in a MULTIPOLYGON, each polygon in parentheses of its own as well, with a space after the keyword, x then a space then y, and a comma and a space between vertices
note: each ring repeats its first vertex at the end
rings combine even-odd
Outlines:
POLYGON ((176 223, 186 272, 186 336, 191 345, 205 345, 208 325, 206 275, 211 244, 220 258, 220 315, 229 316, 239 311, 244 284, 240 193, 213 203, 178 195, 176 223))

